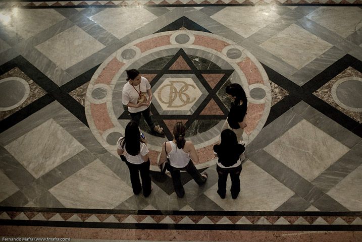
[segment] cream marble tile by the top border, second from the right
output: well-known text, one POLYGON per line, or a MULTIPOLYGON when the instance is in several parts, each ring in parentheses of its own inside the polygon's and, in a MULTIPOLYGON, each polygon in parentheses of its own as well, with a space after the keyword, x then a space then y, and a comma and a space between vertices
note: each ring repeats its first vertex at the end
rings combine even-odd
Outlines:
POLYGON ((227 7, 211 18, 247 38, 280 17, 274 8, 272 5, 227 7))

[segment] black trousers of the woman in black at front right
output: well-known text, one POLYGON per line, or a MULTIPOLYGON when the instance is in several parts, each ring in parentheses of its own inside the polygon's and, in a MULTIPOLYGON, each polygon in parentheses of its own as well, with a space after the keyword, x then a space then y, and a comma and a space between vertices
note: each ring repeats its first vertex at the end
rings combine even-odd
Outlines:
POLYGON ((237 167, 233 168, 221 168, 216 165, 216 171, 219 175, 218 180, 218 194, 221 198, 225 198, 226 195, 226 181, 228 179, 228 174, 230 174, 231 178, 231 197, 236 199, 240 192, 240 172, 241 172, 241 164, 237 167))

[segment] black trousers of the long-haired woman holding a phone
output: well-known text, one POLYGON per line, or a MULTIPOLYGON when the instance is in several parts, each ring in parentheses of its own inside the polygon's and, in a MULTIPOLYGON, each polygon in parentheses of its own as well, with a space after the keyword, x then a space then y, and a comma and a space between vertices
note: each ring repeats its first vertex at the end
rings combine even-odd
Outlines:
POLYGON ((131 184, 133 193, 138 195, 143 189, 143 196, 148 197, 151 193, 151 177, 149 176, 149 159, 141 164, 133 164, 126 161, 131 176, 131 184), (139 172, 139 173, 138 173, 139 172), (141 175, 141 181, 139 180, 141 175))

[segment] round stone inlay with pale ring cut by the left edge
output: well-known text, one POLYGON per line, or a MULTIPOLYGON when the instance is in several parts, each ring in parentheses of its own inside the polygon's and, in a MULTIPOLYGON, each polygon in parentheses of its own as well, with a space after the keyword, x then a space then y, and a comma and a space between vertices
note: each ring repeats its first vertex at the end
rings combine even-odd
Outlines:
MULTIPOLYGON (((5 78, 0 81, 0 107, 1 108, 10 108, 14 106, 19 106, 25 100, 24 97, 26 93, 26 86, 29 86, 28 83, 21 78, 5 78), (21 103, 20 103, 21 102, 21 103)), ((26 98, 26 97, 25 97, 26 98)))

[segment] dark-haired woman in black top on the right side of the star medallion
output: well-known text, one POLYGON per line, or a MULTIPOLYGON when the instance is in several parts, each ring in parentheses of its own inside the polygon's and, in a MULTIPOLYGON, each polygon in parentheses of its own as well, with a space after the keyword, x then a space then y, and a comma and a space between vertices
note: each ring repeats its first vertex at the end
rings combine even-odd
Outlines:
POLYGON ((240 84, 233 83, 226 87, 226 93, 233 102, 231 103, 230 112, 225 120, 221 131, 229 129, 234 131, 236 139, 239 142, 244 128, 246 127, 246 109, 247 99, 244 89, 240 84))

